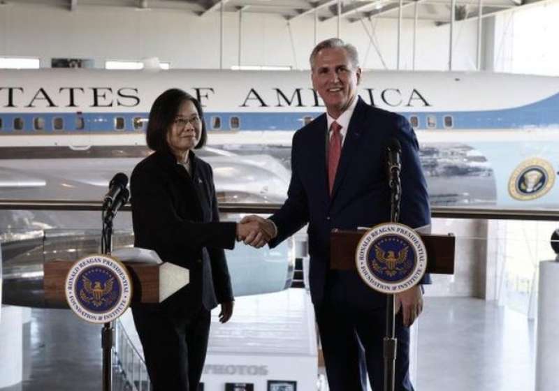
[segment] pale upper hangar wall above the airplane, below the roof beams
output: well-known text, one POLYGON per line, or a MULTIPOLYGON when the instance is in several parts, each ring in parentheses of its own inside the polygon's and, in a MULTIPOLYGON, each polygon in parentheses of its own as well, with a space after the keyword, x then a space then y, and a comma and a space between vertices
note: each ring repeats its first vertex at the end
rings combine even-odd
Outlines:
MULTIPOLYGON (((373 20, 379 52, 386 68, 396 68, 397 23, 373 20)), ((369 31, 372 24, 365 21, 369 31)), ((238 64, 238 13, 224 14, 224 68, 238 64)), ((474 70, 477 22, 457 22, 453 69, 474 70)), ((314 45, 314 18, 291 22, 294 53, 286 20, 270 14, 242 14, 243 65, 308 68, 314 45)), ((318 39, 335 36, 337 20, 319 22, 318 39)), ((342 38, 354 43, 365 68, 384 68, 370 47, 363 23, 343 22, 342 38)), ((402 69, 412 69, 413 20, 402 29, 402 69)), ((447 70, 449 25, 419 22, 416 69, 447 70)), ((103 68, 106 59, 139 60, 159 57, 173 68, 219 68, 219 12, 205 17, 177 10, 140 10, 78 5, 75 11, 29 4, 0 6, 0 55, 39 57, 50 66, 52 57, 94 59, 103 68)))

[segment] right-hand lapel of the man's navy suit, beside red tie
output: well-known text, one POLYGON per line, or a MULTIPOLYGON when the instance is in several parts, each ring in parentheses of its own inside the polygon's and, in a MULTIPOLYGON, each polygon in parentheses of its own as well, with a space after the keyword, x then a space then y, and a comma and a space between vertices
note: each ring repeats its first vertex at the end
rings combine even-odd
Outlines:
POLYGON ((349 165, 356 155, 356 151, 359 146, 359 138, 361 138, 361 133, 364 130, 363 128, 361 128, 361 126, 363 124, 363 116, 365 115, 365 103, 359 96, 357 97, 357 99, 357 105, 355 106, 353 115, 351 115, 351 119, 349 120, 349 128, 347 129, 347 133, 345 135, 346 139, 344 140, 344 145, 342 147, 342 156, 340 156, 340 163, 338 163, 337 165, 336 177, 334 179, 334 188, 332 190, 330 199, 331 205, 333 200, 335 199, 337 190, 340 188, 345 175, 347 175, 349 165))

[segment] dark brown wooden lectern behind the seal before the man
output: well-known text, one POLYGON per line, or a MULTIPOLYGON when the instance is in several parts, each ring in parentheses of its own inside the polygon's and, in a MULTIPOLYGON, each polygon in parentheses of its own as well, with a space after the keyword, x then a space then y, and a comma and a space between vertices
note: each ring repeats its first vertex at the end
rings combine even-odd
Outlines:
MULTIPOLYGON (((366 230, 333 230, 330 262, 334 270, 356 270, 355 251, 366 230)), ((454 274, 454 235, 421 235, 427 248, 427 273, 454 274)))

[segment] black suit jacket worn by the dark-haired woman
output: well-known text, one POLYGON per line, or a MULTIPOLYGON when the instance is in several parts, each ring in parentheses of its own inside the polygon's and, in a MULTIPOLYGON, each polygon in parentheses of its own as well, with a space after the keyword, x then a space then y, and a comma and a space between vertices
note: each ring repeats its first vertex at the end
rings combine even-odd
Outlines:
POLYGON ((134 245, 186 267, 190 283, 161 304, 175 315, 233 300, 223 249, 235 246, 235 223, 220 223, 212 168, 191 152, 191 172, 155 152, 131 177, 134 245))

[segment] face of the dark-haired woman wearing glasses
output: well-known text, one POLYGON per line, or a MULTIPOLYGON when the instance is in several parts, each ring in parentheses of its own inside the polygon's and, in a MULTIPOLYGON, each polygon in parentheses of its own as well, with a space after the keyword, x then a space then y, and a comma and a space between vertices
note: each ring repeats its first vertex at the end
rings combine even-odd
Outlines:
POLYGON ((175 156, 184 158, 189 149, 193 149, 200 140, 202 119, 192 101, 184 101, 167 132, 167 144, 175 156))

